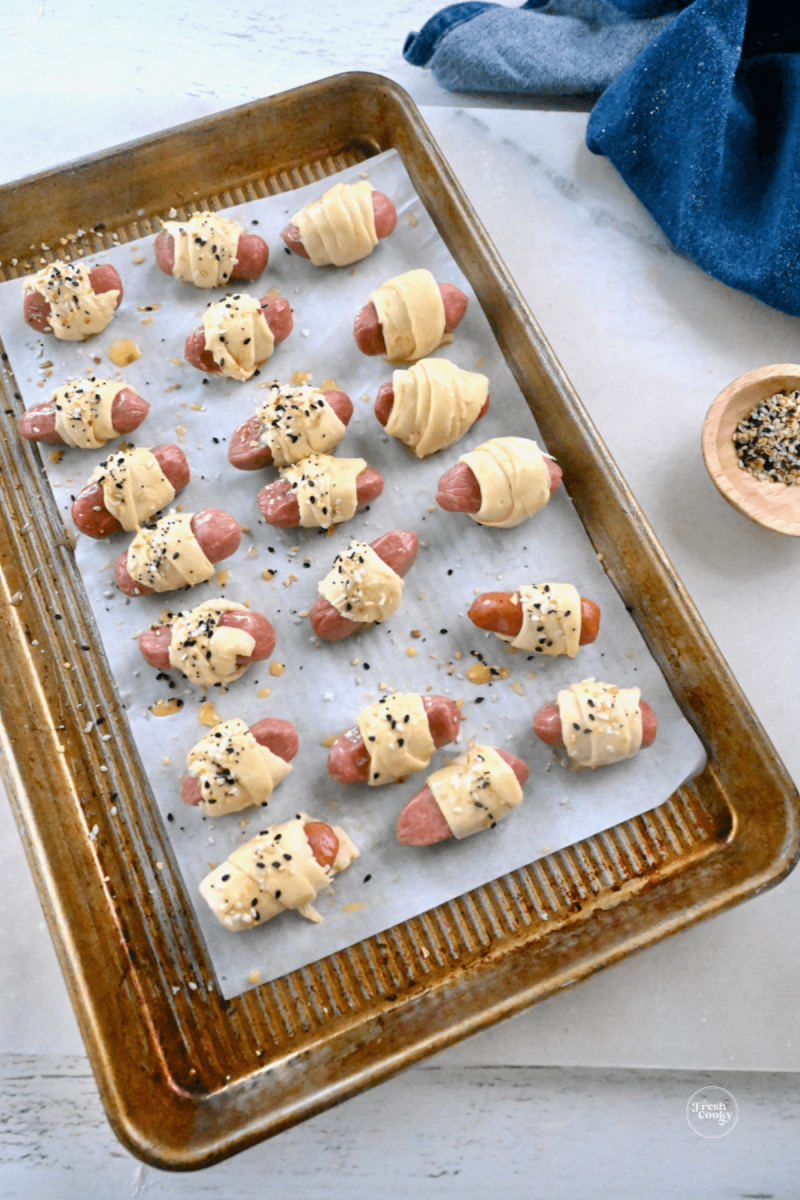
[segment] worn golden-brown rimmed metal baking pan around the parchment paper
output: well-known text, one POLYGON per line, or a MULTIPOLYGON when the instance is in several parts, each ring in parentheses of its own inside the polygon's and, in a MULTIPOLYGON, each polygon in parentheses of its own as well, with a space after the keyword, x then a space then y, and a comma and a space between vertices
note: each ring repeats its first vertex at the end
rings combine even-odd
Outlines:
POLYGON ((144 236, 188 199, 224 206, 290 191, 392 148, 708 764, 636 820, 224 1001, 96 649, 70 538, 18 437, 4 356, 4 776, 109 1120, 161 1168, 205 1166, 285 1129, 763 890, 799 850, 789 776, 396 84, 338 76, 7 185, 0 275, 36 270, 31 245, 92 252, 114 234, 144 236), (80 732, 90 707, 110 740, 80 732))

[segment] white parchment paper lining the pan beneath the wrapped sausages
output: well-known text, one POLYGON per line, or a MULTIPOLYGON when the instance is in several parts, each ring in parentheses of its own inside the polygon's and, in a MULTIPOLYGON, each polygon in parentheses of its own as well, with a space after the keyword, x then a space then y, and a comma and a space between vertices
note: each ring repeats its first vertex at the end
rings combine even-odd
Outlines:
MULTIPOLYGON (((199 324, 205 304, 221 293, 181 287, 162 275, 152 257, 152 239, 91 259, 114 263, 124 281, 125 300, 108 329, 86 343, 36 335, 20 319, 20 282, 0 286, 0 330, 26 407, 47 398, 66 378, 89 372, 109 378, 121 374, 151 403, 148 420, 127 440, 142 445, 169 440, 182 444, 194 473, 192 484, 178 498, 184 509, 224 506, 248 527, 239 553, 221 564, 229 572, 224 588, 210 583, 191 593, 137 600, 125 598, 113 581, 112 563, 127 545, 126 535, 104 542, 79 536, 76 550, 133 737, 167 818, 187 890, 197 900, 198 920, 221 990, 228 997, 251 986, 254 973, 260 982, 285 974, 652 808, 704 763, 699 740, 608 583, 564 487, 542 512, 511 530, 483 529, 467 516, 443 512, 434 504, 435 481, 467 449, 501 434, 537 437, 530 412, 475 300, 453 344, 439 352, 459 366, 483 371, 491 379, 489 413, 458 446, 419 463, 383 433, 372 404, 362 401, 372 401, 380 383, 391 378, 391 367, 381 359, 362 356, 353 342, 353 318, 371 290, 391 275, 427 265, 438 280, 457 283, 471 295, 396 152, 342 172, 338 178, 362 175, 395 199, 399 220, 391 239, 351 269, 315 269, 284 253, 277 236, 291 214, 330 187, 331 179, 229 210, 270 245, 267 271, 242 290, 261 295, 277 288, 289 298, 295 318, 293 335, 276 349, 260 378, 246 384, 206 378, 182 361, 186 335, 199 324), (137 311, 148 306, 161 307, 137 311), (120 373, 106 350, 121 337, 133 338, 142 358, 120 373), (95 361, 98 358, 100 364, 95 361), (46 362, 52 367, 43 367, 46 362), (43 379, 48 371, 50 377, 43 379), (230 432, 261 402, 264 394, 258 385, 273 378, 288 379, 296 371, 308 372, 318 384, 335 379, 349 392, 355 413, 338 454, 362 456, 386 476, 384 496, 371 511, 338 527, 330 538, 313 530, 266 526, 255 494, 264 482, 277 478, 276 473, 240 473, 227 462, 230 432), (392 528, 414 528, 421 540, 399 612, 387 626, 338 644, 317 646, 301 613, 313 604, 317 583, 335 554, 354 536, 372 540, 392 528), (273 570, 275 577, 265 581, 265 570, 273 570), (476 630, 465 616, 476 592, 511 589, 548 578, 573 582, 602 608, 599 641, 583 647, 573 661, 533 662, 523 653, 510 655, 505 643, 476 630), (175 673, 158 679, 142 660, 132 635, 156 622, 167 607, 193 607, 221 594, 242 602, 249 600, 253 608, 270 617, 278 635, 271 664, 281 662, 284 670, 272 676, 270 664, 258 664, 227 695, 212 690, 210 698, 221 719, 242 716, 252 724, 272 715, 293 720, 301 749, 291 775, 273 793, 269 810, 245 810, 212 821, 196 809, 186 809, 179 799, 186 751, 205 732, 198 724, 205 696, 175 673), (413 637, 411 630, 419 630, 421 636, 413 637), (509 667, 509 678, 488 685, 471 684, 465 672, 475 661, 474 653, 493 666, 509 667), (628 763, 584 775, 563 769, 558 756, 533 737, 530 721, 560 686, 589 676, 640 686, 658 714, 660 727, 651 750, 628 763), (425 775, 385 788, 344 788, 327 776, 327 751, 321 746, 325 738, 354 724, 359 710, 381 695, 381 685, 463 697, 463 738, 507 749, 530 763, 523 805, 497 829, 467 841, 422 848, 399 846, 393 836, 397 814, 422 786, 425 775), (270 694, 263 695, 266 689, 270 694), (150 707, 156 701, 174 696, 184 700, 180 713, 169 718, 152 715, 150 707), (209 864, 221 863, 236 844, 253 836, 267 821, 285 820, 301 809, 344 824, 362 856, 337 878, 330 893, 320 896, 317 907, 324 924, 314 926, 290 913, 257 931, 239 936, 228 932, 199 900, 197 883, 209 864)), ((67 450, 59 462, 53 462, 58 452, 54 455, 52 446, 42 448, 67 523, 71 496, 106 452, 67 450)), ((90 736, 106 736, 102 725, 92 725, 90 736)), ((431 770, 443 766, 451 754, 450 748, 438 752, 431 770)))

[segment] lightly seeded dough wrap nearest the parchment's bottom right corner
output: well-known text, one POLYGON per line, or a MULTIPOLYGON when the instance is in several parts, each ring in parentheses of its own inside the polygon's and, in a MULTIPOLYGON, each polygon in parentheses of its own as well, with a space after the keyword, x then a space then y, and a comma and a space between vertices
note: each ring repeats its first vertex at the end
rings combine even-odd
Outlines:
POLYGON ((561 736, 576 767, 606 767, 642 746, 638 688, 583 679, 558 694, 561 736))

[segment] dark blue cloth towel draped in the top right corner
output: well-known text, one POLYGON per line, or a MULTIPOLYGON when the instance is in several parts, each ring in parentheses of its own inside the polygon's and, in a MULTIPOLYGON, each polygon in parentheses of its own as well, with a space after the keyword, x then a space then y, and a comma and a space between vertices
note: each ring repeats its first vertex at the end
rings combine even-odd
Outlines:
POLYGON ((694 0, 597 101, 587 131, 698 266, 800 316, 800 13, 694 0), (750 8, 750 11, 748 11, 750 8))

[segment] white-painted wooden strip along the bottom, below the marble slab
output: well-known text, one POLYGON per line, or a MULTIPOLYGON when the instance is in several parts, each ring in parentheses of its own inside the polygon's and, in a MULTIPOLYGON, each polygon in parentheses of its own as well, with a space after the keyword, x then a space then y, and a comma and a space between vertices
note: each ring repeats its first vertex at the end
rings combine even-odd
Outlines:
POLYGON ((82 1057, 0 1056, 4 1200, 792 1200, 800 1096, 790 1075, 415 1067, 218 1166, 170 1175, 114 1140, 82 1057), (686 1104, 727 1088, 723 1138, 686 1104))

